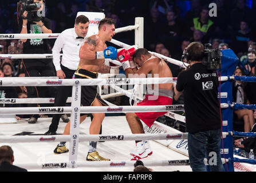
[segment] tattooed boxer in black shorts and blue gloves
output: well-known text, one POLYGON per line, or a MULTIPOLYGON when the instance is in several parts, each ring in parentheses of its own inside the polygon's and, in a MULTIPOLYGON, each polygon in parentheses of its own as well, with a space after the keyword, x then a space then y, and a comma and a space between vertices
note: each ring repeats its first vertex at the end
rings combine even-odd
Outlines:
MULTIPOLYGON (((80 62, 76 70, 76 78, 92 79, 97 78, 97 73, 109 73, 110 67, 104 65, 104 59, 116 59, 117 50, 114 47, 107 47, 106 41, 111 41, 115 35, 115 21, 104 18, 99 23, 99 33, 86 38, 79 51, 80 62)), ((107 105, 101 100, 97 93, 97 86, 81 87, 81 105, 82 106, 103 106, 107 105)), ((93 120, 90 124, 89 134, 99 134, 101 124, 105 118, 105 113, 93 113, 93 120)), ((80 123, 85 120, 87 114, 81 114, 80 123)), ((65 126, 64 135, 70 134, 70 121, 65 126)), ((89 150, 86 157, 87 161, 110 161, 108 158, 101 157, 96 151, 97 141, 89 142, 89 150)), ((68 152, 65 142, 60 142, 55 154, 68 152)))

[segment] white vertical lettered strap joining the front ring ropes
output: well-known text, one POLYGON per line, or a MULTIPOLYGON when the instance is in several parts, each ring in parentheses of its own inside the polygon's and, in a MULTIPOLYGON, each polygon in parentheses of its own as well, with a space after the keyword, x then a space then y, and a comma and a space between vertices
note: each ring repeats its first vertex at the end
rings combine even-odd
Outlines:
POLYGON ((70 145, 69 145, 70 168, 77 168, 80 106, 81 106, 81 85, 78 80, 74 80, 74 85, 72 87, 72 104, 71 104, 72 113, 71 113, 71 121, 70 121, 70 145))

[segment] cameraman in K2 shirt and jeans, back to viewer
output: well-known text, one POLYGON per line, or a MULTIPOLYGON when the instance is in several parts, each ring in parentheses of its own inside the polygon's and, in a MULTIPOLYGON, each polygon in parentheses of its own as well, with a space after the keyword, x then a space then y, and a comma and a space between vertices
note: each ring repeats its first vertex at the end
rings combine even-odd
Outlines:
POLYGON ((192 42, 187 47, 190 67, 178 75, 174 99, 184 96, 188 156, 192 171, 205 172, 204 158, 210 160, 211 171, 224 171, 220 159, 220 108, 218 76, 203 65, 204 46, 192 42), (212 161, 213 160, 213 161, 212 161))

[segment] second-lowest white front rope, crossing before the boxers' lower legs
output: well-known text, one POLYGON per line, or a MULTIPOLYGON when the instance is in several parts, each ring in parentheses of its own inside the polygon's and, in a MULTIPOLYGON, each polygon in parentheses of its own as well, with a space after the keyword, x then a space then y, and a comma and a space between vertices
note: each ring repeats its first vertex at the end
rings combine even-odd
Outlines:
MULTIPOLYGON (((187 133, 161 133, 161 134, 90 134, 79 135, 79 141, 133 141, 133 140, 186 140, 187 133)), ((20 143, 20 142, 69 142, 70 139, 77 138, 70 135, 57 136, 0 136, 0 143, 20 143)))

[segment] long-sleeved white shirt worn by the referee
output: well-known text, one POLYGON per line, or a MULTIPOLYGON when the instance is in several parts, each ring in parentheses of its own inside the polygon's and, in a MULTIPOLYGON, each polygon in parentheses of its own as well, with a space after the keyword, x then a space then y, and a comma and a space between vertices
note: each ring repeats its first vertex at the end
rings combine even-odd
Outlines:
POLYGON ((53 64, 56 71, 61 69, 60 66, 60 51, 62 50, 61 65, 68 67, 68 69, 76 70, 80 61, 79 50, 84 39, 77 39, 78 35, 74 28, 62 31, 56 39, 53 46, 53 64))

